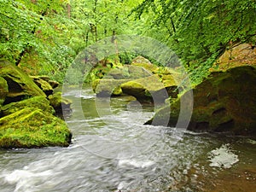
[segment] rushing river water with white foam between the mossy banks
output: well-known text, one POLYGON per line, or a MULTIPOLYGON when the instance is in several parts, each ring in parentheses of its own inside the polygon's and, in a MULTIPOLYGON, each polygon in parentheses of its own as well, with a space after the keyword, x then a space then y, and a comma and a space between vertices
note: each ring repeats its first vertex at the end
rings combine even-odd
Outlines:
POLYGON ((68 148, 0 151, 0 191, 255 191, 256 141, 143 125, 154 105, 67 90, 68 148))

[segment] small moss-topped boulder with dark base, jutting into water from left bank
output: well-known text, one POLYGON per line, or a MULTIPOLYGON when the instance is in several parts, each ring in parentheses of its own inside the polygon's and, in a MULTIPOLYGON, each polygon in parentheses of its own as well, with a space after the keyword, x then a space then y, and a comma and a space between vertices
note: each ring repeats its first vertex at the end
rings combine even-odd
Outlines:
POLYGON ((62 97, 61 92, 56 92, 54 95, 48 96, 49 104, 55 109, 55 113, 58 115, 63 115, 63 112, 70 113, 71 112, 71 104, 67 98, 62 97))

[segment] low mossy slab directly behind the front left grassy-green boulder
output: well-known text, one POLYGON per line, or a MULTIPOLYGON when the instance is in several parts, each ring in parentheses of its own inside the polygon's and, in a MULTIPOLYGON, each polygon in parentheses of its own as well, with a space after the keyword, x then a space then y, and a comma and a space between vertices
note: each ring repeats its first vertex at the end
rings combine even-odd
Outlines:
POLYGON ((38 108, 46 113, 55 113, 54 108, 49 105, 49 100, 47 100, 44 96, 34 96, 20 102, 11 102, 4 105, 2 107, 2 114, 3 116, 6 116, 11 113, 16 113, 23 108, 38 108))

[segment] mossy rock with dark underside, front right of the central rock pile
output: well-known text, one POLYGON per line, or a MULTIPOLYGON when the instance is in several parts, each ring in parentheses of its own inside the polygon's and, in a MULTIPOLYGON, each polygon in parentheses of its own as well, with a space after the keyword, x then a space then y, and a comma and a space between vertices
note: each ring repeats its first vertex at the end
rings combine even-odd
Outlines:
POLYGON ((164 102, 176 88, 177 85, 173 79, 164 84, 158 75, 134 79, 121 84, 121 89, 125 94, 135 96, 138 100, 154 100, 154 102, 164 102))

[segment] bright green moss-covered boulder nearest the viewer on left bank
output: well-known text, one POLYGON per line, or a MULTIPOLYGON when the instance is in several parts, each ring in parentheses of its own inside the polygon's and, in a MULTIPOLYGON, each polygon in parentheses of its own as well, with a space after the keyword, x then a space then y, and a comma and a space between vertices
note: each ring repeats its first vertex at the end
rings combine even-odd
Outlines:
POLYGON ((66 123, 38 108, 24 108, 0 119, 0 148, 66 147, 66 123))

